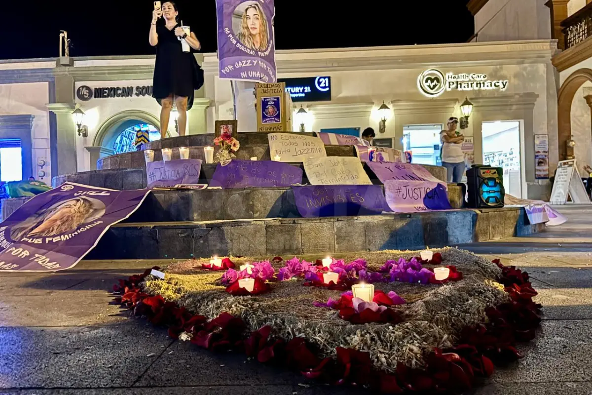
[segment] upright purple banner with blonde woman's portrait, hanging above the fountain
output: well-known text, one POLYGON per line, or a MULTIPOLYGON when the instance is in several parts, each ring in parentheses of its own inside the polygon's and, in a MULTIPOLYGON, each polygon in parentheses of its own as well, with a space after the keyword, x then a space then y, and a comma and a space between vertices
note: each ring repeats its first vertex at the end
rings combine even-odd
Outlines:
POLYGON ((216 0, 220 78, 276 82, 274 0, 216 0))

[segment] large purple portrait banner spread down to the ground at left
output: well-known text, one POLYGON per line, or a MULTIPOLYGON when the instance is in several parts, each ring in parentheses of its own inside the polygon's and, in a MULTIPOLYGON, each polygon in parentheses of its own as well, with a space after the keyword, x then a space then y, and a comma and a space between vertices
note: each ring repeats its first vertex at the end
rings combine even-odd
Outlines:
POLYGON ((0 272, 72 268, 149 193, 66 182, 31 198, 0 226, 0 272))

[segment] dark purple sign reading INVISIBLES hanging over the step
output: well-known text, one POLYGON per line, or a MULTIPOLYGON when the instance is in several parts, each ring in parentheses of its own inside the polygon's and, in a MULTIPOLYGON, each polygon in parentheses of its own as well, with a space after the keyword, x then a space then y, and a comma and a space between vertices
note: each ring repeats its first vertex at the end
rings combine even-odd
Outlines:
POLYGON ((305 218, 371 216, 391 211, 380 185, 292 187, 298 212, 305 218))

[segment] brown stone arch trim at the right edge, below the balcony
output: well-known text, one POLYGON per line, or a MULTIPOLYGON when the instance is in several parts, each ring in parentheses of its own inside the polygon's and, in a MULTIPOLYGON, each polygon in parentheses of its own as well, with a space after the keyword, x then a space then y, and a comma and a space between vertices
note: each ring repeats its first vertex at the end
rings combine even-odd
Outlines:
POLYGON ((571 105, 574 101, 575 92, 577 92, 586 81, 592 82, 592 70, 579 69, 571 73, 559 89, 559 94, 557 95, 559 160, 565 160, 568 157, 574 156, 574 149, 567 146, 567 140, 569 140, 571 136, 571 105))

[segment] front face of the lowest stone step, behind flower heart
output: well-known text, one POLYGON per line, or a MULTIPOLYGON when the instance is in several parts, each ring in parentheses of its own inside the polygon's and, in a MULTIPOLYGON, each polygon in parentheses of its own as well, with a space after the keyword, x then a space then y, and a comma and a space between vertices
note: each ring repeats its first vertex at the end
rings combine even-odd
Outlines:
POLYGON ((422 249, 541 232, 519 207, 366 217, 120 223, 86 259, 188 259, 422 249))

